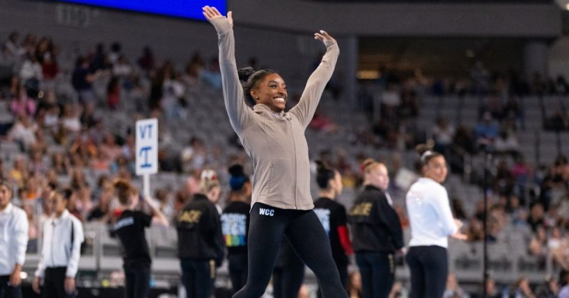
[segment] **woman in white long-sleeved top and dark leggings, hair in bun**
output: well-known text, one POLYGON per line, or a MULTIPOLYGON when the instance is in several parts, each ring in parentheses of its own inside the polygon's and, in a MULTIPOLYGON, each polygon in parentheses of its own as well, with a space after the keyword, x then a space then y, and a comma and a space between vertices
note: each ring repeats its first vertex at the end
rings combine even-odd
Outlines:
POLYGON ((411 272, 413 297, 442 298, 449 275, 448 237, 467 237, 460 233, 462 222, 454 219, 449 196, 441 185, 448 171, 444 156, 423 144, 417 146, 417 151, 421 156, 421 178, 407 192, 411 240, 405 260, 411 272))

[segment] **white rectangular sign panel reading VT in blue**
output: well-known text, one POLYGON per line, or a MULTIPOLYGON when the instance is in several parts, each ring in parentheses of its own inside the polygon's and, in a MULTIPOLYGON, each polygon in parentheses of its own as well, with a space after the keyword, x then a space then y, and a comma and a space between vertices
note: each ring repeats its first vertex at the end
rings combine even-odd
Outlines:
POLYGON ((137 121, 137 175, 158 172, 158 120, 137 121))

